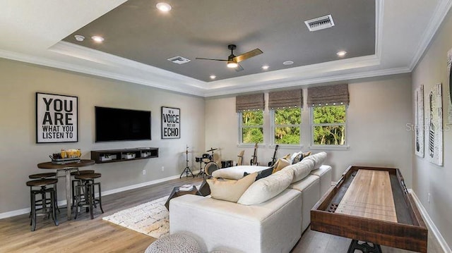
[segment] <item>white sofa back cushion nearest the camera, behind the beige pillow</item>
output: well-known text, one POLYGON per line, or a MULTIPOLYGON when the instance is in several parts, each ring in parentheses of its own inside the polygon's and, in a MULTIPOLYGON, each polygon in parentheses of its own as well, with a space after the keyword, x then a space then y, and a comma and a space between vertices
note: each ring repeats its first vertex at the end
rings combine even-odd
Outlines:
POLYGON ((266 178, 257 180, 246 189, 237 203, 244 205, 259 204, 283 192, 292 183, 292 170, 278 171, 266 178))

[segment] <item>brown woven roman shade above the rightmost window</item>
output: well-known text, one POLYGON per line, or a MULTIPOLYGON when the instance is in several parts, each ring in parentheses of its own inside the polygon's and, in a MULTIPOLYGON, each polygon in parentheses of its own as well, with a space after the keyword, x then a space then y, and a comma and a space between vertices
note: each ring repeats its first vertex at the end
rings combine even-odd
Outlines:
POLYGON ((348 85, 328 85, 308 88, 308 106, 349 104, 348 85))

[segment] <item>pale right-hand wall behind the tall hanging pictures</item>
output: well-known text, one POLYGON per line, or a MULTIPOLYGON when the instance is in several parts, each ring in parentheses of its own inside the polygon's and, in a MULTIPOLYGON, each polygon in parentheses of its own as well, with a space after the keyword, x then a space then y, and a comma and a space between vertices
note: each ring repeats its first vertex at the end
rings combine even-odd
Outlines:
MULTIPOLYGON (((447 125, 447 112, 450 106, 448 104, 449 87, 446 56, 447 51, 452 49, 451 30, 452 13, 449 11, 429 48, 412 73, 413 97, 417 87, 424 85, 424 116, 426 119, 429 109, 428 94, 434 85, 439 82, 443 84, 444 166, 429 163, 427 152, 424 158, 420 158, 414 155, 413 150, 413 190, 415 190, 422 205, 449 246, 452 245, 452 158, 450 156, 452 125, 447 125), (428 202, 429 194, 431 195, 430 202, 428 202)), ((414 113, 414 103, 412 108, 414 113)), ((424 137, 424 143, 427 144, 428 135, 426 134, 424 137)))

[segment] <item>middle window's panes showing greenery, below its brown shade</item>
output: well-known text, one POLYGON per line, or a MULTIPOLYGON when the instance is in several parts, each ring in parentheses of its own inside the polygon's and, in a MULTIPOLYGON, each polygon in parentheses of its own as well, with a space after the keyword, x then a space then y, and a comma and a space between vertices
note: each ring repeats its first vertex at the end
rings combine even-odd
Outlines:
POLYGON ((292 109, 271 110, 272 131, 274 144, 297 144, 301 142, 300 126, 302 124, 302 110, 299 107, 292 109))

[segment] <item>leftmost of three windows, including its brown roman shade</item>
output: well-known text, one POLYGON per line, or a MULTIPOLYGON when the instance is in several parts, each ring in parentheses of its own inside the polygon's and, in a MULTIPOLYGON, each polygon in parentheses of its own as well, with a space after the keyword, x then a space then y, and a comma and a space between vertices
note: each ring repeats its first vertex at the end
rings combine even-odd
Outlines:
POLYGON ((263 93, 235 97, 235 109, 239 113, 239 143, 263 142, 263 93))

